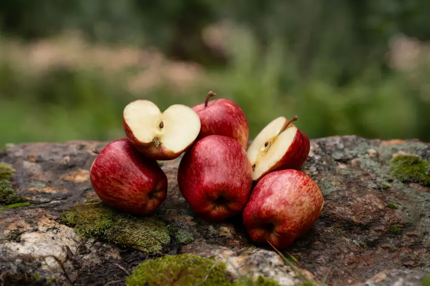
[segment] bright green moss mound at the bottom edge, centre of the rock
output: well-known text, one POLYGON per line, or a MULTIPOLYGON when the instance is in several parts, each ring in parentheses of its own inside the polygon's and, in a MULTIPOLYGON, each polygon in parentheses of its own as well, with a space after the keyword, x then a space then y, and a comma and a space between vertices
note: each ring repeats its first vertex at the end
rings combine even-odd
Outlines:
MULTIPOLYGON (((127 277, 127 286, 245 286, 250 278, 237 279, 225 271, 225 263, 214 258, 202 258, 197 255, 180 254, 164 256, 139 264, 127 277)), ((253 285, 278 286, 269 278, 260 276, 253 285)))

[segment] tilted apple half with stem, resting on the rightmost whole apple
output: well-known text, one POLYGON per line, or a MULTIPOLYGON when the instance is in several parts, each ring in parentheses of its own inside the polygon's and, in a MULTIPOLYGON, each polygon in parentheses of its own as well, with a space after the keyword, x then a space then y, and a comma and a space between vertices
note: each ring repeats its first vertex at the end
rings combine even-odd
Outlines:
POLYGON ((300 169, 310 151, 308 136, 291 120, 278 117, 271 121, 255 137, 248 147, 247 157, 251 162, 252 179, 258 182, 270 172, 283 169, 300 169))

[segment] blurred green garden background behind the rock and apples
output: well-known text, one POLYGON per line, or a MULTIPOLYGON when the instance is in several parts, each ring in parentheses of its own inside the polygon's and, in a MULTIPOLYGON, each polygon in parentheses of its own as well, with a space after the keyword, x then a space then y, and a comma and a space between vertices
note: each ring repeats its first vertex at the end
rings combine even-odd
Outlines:
POLYGON ((430 141, 427 0, 2 0, 0 144, 123 137, 138 98, 239 104, 250 137, 430 141))

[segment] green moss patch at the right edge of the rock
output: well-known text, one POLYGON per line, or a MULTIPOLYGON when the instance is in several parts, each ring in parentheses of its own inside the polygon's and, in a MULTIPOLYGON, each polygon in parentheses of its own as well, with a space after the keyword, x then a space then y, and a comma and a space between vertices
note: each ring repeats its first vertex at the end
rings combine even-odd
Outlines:
POLYGON ((392 175, 402 182, 430 185, 430 163, 418 156, 397 156, 390 167, 392 175))

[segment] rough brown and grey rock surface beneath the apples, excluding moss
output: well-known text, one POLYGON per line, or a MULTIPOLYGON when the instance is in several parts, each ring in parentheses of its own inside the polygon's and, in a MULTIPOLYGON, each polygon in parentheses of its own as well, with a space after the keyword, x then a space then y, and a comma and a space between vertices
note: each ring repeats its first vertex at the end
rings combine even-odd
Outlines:
POLYGON ((162 164, 168 198, 153 216, 180 232, 161 251, 148 254, 80 237, 59 217, 77 203, 97 200, 88 174, 93 150, 105 144, 22 144, 0 154, 0 162, 16 170, 18 195, 31 203, 0 211, 0 284, 55 279, 60 285, 124 285, 138 263, 179 253, 215 256, 232 272, 273 276, 283 285, 301 283, 303 276, 326 277, 326 285, 420 285, 430 271, 430 188, 401 182, 390 171, 393 156, 430 161, 430 145, 423 142, 312 140, 302 171, 318 183, 325 204, 312 229, 282 252, 297 260, 289 263, 268 246, 254 246, 240 217, 213 224, 195 215, 177 187, 180 158, 162 164))

